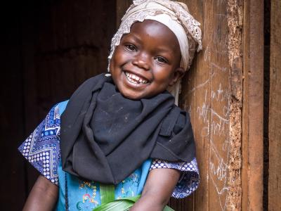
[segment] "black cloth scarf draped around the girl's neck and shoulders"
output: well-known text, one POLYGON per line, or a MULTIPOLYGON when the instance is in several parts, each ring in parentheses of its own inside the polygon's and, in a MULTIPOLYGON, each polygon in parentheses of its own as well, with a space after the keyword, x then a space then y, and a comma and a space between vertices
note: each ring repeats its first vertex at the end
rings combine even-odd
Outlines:
POLYGON ((63 170, 84 179, 118 184, 148 158, 195 157, 190 118, 168 91, 132 101, 111 77, 98 75, 74 92, 61 121, 63 170))

